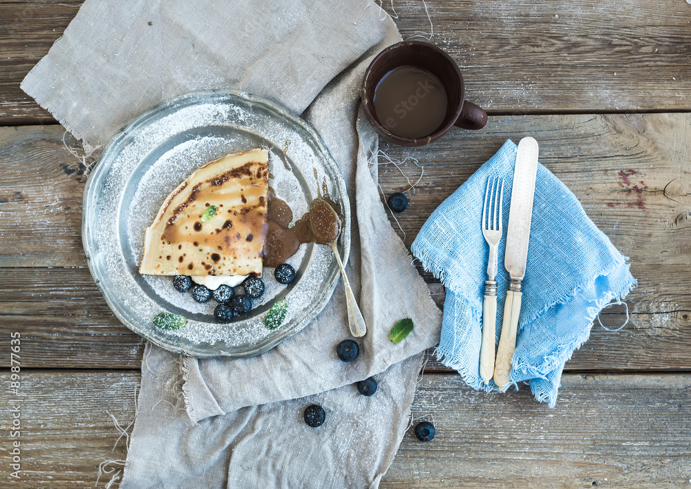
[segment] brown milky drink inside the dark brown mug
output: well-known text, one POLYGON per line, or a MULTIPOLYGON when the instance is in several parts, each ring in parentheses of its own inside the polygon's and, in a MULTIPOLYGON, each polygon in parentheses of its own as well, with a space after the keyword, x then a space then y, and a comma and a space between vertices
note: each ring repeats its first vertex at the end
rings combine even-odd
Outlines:
POLYGON ((375 115, 391 133, 415 139, 437 132, 446 117, 446 90, 432 73, 400 66, 375 88, 375 115))

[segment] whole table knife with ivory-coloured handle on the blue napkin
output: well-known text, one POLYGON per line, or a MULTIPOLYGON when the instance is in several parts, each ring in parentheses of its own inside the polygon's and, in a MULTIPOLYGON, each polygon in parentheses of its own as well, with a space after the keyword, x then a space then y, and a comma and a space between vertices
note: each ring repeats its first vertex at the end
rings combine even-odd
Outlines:
POLYGON ((528 241, 530 221, 533 215, 535 178, 538 173, 538 142, 532 137, 524 137, 518 143, 513 186, 511 187, 511 210, 509 211, 509 231, 507 248, 504 253, 504 267, 509 272, 509 290, 504 300, 504 319, 502 336, 499 340, 494 367, 494 383, 500 390, 511 381, 511 358, 518 331, 518 316, 522 293, 522 282, 528 260, 528 241))

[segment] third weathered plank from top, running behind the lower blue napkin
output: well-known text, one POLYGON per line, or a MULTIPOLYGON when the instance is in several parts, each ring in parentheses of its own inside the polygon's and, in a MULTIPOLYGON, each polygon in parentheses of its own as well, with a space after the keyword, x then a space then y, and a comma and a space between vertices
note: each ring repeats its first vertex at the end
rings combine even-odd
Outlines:
MULTIPOLYGON (((25 338, 28 367, 136 368, 144 342, 111 314, 88 269, 0 269, 0 337, 18 331, 25 338)), ((432 284, 443 304, 443 287, 432 284)), ((643 287, 643 286, 642 286, 643 287)), ((653 289, 655 284, 650 284, 653 289)), ((659 291, 659 294, 662 294, 659 291)), ((671 292, 670 292, 671 293, 671 292)), ((673 294, 679 303, 688 297, 673 294)), ((652 312, 645 294, 632 299, 631 322, 621 332, 596 325, 591 339, 567 363, 567 370, 688 370, 691 368, 691 306, 652 312), (638 300, 641 302, 638 302, 638 300), (645 312, 641 312, 645 311, 645 312)), ((601 316, 614 329, 625 321, 624 307, 601 316)), ((433 359, 428 371, 448 371, 433 359)), ((0 359, 8 367, 9 358, 0 359)))

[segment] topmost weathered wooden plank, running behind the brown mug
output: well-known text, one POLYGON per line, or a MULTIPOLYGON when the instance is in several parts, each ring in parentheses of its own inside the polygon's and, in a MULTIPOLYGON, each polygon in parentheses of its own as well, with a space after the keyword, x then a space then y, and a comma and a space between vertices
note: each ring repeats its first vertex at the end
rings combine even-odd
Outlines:
MULTIPOLYGON (((430 37, 448 50, 465 73, 468 97, 493 113, 691 108, 691 12, 683 1, 384 3, 404 39, 430 37)), ((19 83, 80 4, 3 2, 1 125, 48 119, 19 83)))

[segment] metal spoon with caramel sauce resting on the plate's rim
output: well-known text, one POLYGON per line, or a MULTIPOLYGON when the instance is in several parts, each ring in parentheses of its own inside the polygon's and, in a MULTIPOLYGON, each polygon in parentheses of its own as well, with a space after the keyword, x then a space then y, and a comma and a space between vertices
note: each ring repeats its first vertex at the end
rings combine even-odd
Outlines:
POLYGON ((355 338, 365 336, 367 333, 365 320, 362 317, 360 308, 357 307, 357 301, 350 288, 350 282, 345 275, 345 267, 343 267, 339 250, 336 247, 336 240, 341 233, 341 220, 336 211, 334 211, 329 203, 322 198, 316 198, 312 200, 312 204, 310 204, 310 229, 312 230, 312 235, 316 242, 322 245, 331 245, 331 250, 334 252, 336 261, 341 269, 343 287, 345 287, 345 305, 348 307, 348 327, 350 327, 350 334, 355 338))

